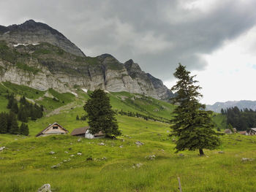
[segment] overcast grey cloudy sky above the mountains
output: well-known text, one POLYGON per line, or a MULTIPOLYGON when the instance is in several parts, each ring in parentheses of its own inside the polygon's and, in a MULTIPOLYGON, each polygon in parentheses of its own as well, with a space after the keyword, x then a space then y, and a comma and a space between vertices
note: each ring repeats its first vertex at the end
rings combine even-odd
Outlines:
MULTIPOLYGON (((225 55, 219 51, 232 44, 242 46, 247 41, 250 46, 237 50, 236 55, 255 52, 256 43, 251 45, 249 41, 256 37, 252 31, 256 26, 255 7, 255 0, 9 0, 0 1, 0 25, 28 19, 47 23, 86 55, 110 53, 121 62, 132 58, 169 87, 173 84, 173 72, 181 62, 198 74, 200 82, 203 81, 203 101, 212 103, 225 97, 219 100, 212 97, 210 88, 215 83, 208 80, 210 74, 219 75, 233 67, 227 65, 229 60, 219 58, 232 57, 233 49, 226 50, 225 55), (249 40, 241 39, 249 31, 249 40), (228 67, 222 69, 222 66, 228 67)), ((237 64, 238 71, 244 66, 242 61, 237 64)), ((224 76, 219 78, 225 81, 224 76)), ((221 90, 215 92, 227 90, 216 88, 221 90)), ((230 90, 227 93, 229 97, 224 100, 252 99, 242 95, 232 97, 230 90)))

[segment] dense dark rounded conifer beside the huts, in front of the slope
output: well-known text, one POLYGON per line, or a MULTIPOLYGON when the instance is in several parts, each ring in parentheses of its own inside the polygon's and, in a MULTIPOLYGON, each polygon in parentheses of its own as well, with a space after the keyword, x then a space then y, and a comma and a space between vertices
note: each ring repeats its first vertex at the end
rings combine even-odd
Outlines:
POLYGON ((106 137, 114 137, 121 134, 115 118, 115 112, 111 109, 110 99, 107 93, 97 89, 89 94, 83 109, 87 112, 91 134, 102 131, 106 137))

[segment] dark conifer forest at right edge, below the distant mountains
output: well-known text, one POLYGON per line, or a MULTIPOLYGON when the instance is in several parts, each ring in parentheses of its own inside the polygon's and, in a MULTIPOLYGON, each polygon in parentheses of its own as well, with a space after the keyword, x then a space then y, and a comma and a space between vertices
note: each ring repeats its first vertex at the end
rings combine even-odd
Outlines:
POLYGON ((238 131, 245 131, 248 128, 256 127, 256 111, 245 108, 230 107, 221 110, 222 115, 227 115, 227 125, 231 125, 238 131))

